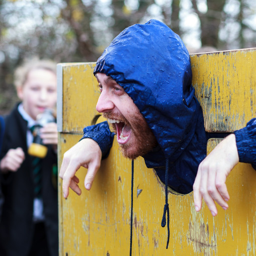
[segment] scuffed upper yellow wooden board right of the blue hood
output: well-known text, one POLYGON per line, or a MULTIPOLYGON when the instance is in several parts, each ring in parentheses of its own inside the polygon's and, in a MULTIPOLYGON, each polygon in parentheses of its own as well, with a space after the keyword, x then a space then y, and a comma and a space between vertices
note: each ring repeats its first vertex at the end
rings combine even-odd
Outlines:
POLYGON ((256 48, 191 56, 192 84, 208 132, 233 132, 256 116, 256 48))

